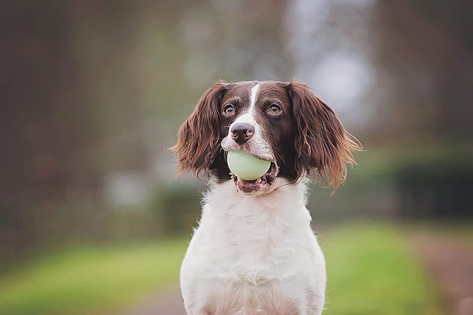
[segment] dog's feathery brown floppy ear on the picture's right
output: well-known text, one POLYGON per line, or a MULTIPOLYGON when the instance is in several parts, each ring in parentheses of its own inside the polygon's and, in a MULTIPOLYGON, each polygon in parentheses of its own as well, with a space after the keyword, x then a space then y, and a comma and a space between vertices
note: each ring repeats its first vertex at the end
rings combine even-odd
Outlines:
POLYGON ((346 165, 355 164, 352 152, 361 150, 361 145, 311 88, 291 81, 287 89, 293 102, 296 126, 295 170, 298 178, 316 170, 329 186, 337 188, 346 179, 346 165))

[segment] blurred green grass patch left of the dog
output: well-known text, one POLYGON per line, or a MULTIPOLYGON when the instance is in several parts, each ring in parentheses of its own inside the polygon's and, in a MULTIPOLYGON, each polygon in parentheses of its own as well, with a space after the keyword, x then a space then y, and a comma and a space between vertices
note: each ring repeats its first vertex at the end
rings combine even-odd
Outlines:
POLYGON ((0 314, 119 309, 178 280, 187 242, 70 250, 0 281, 0 314))

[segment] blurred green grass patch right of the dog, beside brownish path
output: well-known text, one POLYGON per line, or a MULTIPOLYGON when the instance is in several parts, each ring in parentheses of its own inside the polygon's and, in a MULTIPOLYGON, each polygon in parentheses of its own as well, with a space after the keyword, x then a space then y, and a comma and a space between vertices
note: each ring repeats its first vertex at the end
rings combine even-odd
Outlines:
POLYGON ((440 314, 431 281, 394 227, 350 225, 319 240, 328 273, 324 315, 440 314))

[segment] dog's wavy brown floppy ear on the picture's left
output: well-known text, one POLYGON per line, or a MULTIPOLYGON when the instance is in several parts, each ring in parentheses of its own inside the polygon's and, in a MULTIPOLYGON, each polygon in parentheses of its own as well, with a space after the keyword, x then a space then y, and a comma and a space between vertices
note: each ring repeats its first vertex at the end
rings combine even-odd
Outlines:
POLYGON ((194 112, 180 126, 171 150, 178 157, 178 176, 190 171, 206 174, 219 150, 220 102, 228 83, 219 81, 203 93, 194 112))

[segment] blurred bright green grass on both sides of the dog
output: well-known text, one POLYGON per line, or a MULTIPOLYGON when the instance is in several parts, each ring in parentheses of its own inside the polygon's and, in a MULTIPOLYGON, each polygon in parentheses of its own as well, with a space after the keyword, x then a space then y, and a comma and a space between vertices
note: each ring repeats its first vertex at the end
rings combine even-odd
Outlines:
MULTIPOLYGON (((324 315, 440 314, 431 281, 395 227, 360 224, 319 237, 327 259, 324 315)), ((52 255, 0 280, 0 314, 100 314, 178 280, 187 241, 52 255)))

